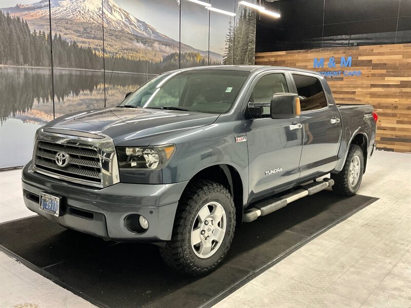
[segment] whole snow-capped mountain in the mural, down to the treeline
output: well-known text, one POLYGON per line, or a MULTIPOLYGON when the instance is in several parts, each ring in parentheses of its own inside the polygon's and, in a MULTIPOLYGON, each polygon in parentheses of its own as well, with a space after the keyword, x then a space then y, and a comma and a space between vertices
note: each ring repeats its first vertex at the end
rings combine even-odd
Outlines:
MULTIPOLYGON (((103 0, 103 6, 102 0, 51 0, 50 4, 53 31, 83 47, 93 46, 92 48, 101 51, 96 42, 101 41, 104 15, 104 29, 107 30, 105 41, 108 43, 106 51, 111 54, 133 54, 136 49, 147 49, 165 56, 179 50, 178 41, 158 32, 153 26, 122 9, 115 0, 103 0)), ((30 29, 49 31, 48 0, 17 4, 0 10, 24 18, 30 29)), ((184 43, 181 44, 181 50, 199 52, 202 56, 209 53, 208 50, 200 50, 184 43)), ((222 60, 222 55, 216 52, 210 51, 210 57, 212 60, 222 60)))

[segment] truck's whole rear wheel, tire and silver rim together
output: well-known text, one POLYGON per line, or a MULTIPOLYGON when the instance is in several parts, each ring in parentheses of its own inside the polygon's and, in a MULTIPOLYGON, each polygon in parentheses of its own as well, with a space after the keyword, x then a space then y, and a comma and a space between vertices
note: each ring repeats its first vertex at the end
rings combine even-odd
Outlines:
POLYGON ((338 174, 331 174, 335 184, 332 190, 342 196, 353 196, 360 188, 364 172, 363 151, 357 144, 352 144, 348 150, 343 169, 338 174))

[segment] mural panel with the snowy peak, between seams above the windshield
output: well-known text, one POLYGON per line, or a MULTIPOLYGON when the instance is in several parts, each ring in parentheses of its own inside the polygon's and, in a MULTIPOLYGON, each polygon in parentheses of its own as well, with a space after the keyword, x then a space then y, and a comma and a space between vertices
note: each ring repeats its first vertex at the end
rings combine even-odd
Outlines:
POLYGON ((125 93, 158 73, 179 67, 178 3, 118 0, 116 4, 117 11, 104 11, 107 107, 118 106, 125 93))

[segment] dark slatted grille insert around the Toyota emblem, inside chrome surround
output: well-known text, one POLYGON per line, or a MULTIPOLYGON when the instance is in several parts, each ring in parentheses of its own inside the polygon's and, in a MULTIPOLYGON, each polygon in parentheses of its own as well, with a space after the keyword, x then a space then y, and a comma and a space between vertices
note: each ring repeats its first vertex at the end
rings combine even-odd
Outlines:
POLYGON ((34 153, 34 167, 68 180, 101 183, 100 157, 91 148, 39 141, 34 153), (55 156, 58 152, 64 152, 70 157, 67 166, 61 167, 56 163, 55 156))

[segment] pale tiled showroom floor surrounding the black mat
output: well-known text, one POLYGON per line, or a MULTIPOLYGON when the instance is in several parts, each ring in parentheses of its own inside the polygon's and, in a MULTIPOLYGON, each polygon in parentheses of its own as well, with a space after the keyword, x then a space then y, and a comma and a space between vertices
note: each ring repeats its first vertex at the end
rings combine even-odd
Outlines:
MULTIPOLYGON (((0 172, 0 222, 33 214, 20 172, 0 172)), ((411 155, 377 151, 359 194, 380 199, 215 307, 411 307, 411 155)), ((91 306, 0 253, 0 307, 91 306)))

